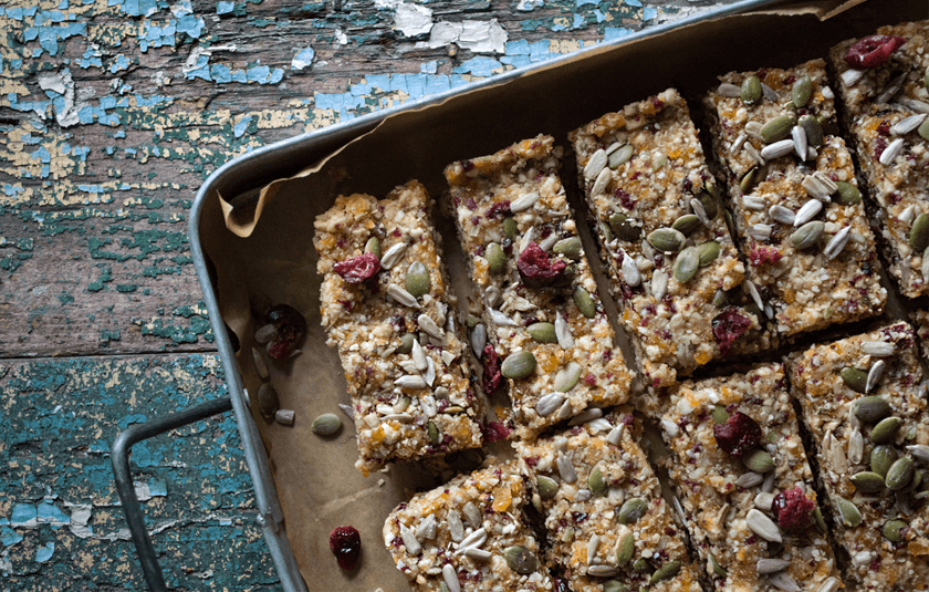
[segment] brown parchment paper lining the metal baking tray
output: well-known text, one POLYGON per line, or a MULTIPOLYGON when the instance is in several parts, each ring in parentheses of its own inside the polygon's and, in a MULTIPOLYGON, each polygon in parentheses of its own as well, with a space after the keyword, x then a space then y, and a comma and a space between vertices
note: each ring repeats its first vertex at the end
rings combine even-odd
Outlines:
MULTIPOLYGON (((253 416, 307 588, 407 590, 384 549, 382 527, 389 511, 414 490, 438 485, 413 465, 363 478, 354 469, 357 448, 347 417, 332 439, 310 430, 319 414, 341 414, 336 404, 349 403, 338 357, 326 346, 320 325, 320 278, 312 245, 314 218, 338 194, 383 197, 418 178, 437 196, 445 188, 442 168, 456 159, 490 154, 539 133, 552 134, 566 145, 570 129, 669 86, 688 98, 696 115, 695 98, 717 84, 718 74, 825 58, 828 48, 843 39, 868 34, 880 24, 926 19, 927 11, 926 0, 790 4, 775 13, 728 17, 618 48, 595 49, 567 64, 398 114, 330 158, 305 163, 293 178, 268 179, 260 191, 225 196, 228 200, 217 195, 208 201, 201 243, 212 266, 222 319, 238 337, 239 371, 250 393, 257 393, 261 382, 251 353, 257 329, 252 304, 286 303, 306 318, 302 354, 270 364, 281 407, 295 411, 295 424, 284 427, 265 422, 257 412, 253 416), (351 573, 337 568, 328 550, 330 531, 343 525, 362 534, 362 560, 351 573)), ((699 120, 697 124, 702 127, 699 120)), ((586 235, 586 250, 595 253, 586 235)), ((446 245, 446 252, 449 266, 461 271, 452 245, 446 245)), ((605 288, 602 293, 607 293, 605 288)))

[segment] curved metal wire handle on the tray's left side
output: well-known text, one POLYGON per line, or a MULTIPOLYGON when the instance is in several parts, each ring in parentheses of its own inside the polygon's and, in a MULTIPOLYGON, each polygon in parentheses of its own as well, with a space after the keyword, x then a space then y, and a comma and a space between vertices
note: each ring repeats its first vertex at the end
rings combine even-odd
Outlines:
POLYGON ((113 474, 116 480, 116 492, 119 495, 119 501, 123 502, 123 513, 126 515, 126 522, 129 525, 129 533, 133 537, 133 543, 135 543, 138 560, 142 563, 145 581, 153 592, 167 592, 168 589, 165 585, 161 565, 158 564, 148 529, 145 528, 142 506, 135 494, 133 474, 129 469, 129 453, 133 446, 143 440, 231 409, 232 399, 230 397, 215 398, 178 413, 134 425, 121 432, 113 440, 111 460, 113 461, 113 474))

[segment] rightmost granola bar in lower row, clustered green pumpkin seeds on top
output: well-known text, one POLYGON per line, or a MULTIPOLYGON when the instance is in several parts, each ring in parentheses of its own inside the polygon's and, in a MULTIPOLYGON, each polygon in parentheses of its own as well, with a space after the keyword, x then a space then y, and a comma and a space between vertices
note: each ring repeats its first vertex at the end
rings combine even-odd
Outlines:
POLYGON ((790 360, 833 533, 862 590, 925 590, 929 581, 929 417, 915 342, 896 323, 790 360))

